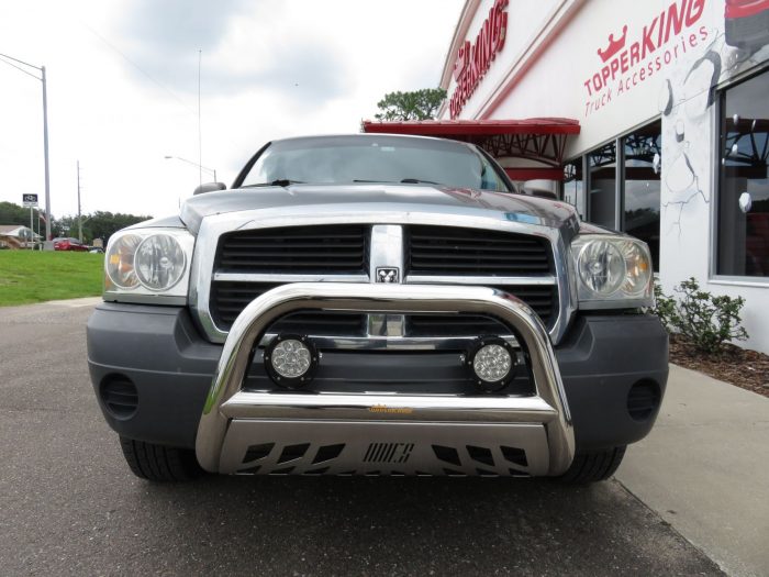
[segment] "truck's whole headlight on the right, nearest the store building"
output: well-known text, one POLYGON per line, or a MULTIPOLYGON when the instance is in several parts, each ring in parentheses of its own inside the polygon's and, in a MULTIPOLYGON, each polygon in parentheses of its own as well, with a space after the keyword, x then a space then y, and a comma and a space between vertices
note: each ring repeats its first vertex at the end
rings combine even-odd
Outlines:
POLYGON ((646 243, 627 236, 583 234, 571 243, 582 309, 654 304, 651 256, 646 243))

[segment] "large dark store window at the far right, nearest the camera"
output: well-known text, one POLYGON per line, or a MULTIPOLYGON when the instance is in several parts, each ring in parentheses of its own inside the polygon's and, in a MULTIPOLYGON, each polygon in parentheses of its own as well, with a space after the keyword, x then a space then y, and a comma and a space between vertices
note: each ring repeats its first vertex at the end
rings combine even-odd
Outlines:
POLYGON ((721 93, 718 275, 769 277, 769 71, 721 93))

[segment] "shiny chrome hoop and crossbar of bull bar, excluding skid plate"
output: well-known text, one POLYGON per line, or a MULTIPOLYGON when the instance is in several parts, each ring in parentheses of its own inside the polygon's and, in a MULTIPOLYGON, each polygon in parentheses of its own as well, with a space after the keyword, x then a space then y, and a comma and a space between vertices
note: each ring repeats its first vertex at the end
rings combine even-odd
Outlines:
MULTIPOLYGON (((501 319, 512 326, 526 344, 531 358, 531 370, 536 390, 535 397, 492 397, 483 396, 482 400, 476 397, 460 397, 461 400, 448 400, 449 397, 425 396, 423 404, 413 411, 425 410, 425 418, 435 418, 437 414, 445 420, 464 422, 471 417, 475 421, 500 421, 499 411, 506 414, 509 423, 515 423, 519 419, 530 419, 533 403, 544 409, 542 403, 551 408, 553 413, 539 411, 543 414, 543 424, 546 428, 549 452, 549 475, 559 475, 566 471, 571 464, 575 452, 575 436, 569 413, 568 401, 558 369, 558 362, 550 344, 545 326, 539 318, 524 302, 505 292, 486 287, 457 287, 457 286, 422 286, 422 285, 358 285, 344 282, 314 282, 285 285, 261 295, 248 304, 235 320, 224 344, 222 356, 214 374, 203 413, 198 428, 196 439, 196 453, 201 466, 207 470, 215 471, 220 468, 222 448, 225 442, 229 417, 222 411, 222 406, 239 393, 243 380, 252 360, 252 351, 267 331, 268 326, 279 317, 289 312, 310 310, 334 310, 352 312, 383 312, 383 313, 411 313, 424 311, 431 313, 470 312, 484 313, 501 319), (433 403, 433 404, 431 404, 433 403), (438 403, 438 407, 434 407, 438 403), (445 403, 448 407, 441 407, 445 403), (466 403, 467 409, 462 409, 466 403), (481 403, 479 407, 477 403, 481 403), (431 407, 434 407, 432 410, 431 407), (487 411, 483 411, 483 409, 487 411), (488 410, 492 409, 492 410, 488 410), (437 411, 437 412, 436 412, 437 411), (471 415, 468 413, 472 413, 471 415), (519 417, 520 413, 520 417, 519 417), (545 420, 544 417, 547 417, 545 420), (546 422, 545 422, 546 421, 546 422)), ((291 406, 292 396, 270 393, 275 397, 274 404, 285 407, 286 411, 302 411, 303 407, 291 406), (288 407, 287 407, 288 406, 288 407)), ((315 409, 331 407, 324 404, 327 397, 320 395, 305 395, 303 403, 314 403, 315 409), (312 400, 308 400, 312 399, 312 400)), ((382 396, 376 396, 380 399, 382 396)), ((398 396, 387 397, 387 407, 399 403, 398 396)), ((412 396, 409 396, 410 398, 412 396)), ((364 407, 367 401, 359 398, 358 407, 364 407)), ((237 397, 234 401, 238 404, 238 411, 245 417, 263 414, 265 402, 260 398, 247 398, 257 402, 239 403, 237 397)), ((416 402, 416 399, 413 399, 416 402)), ((369 408, 374 408, 374 404, 369 408)), ((338 408, 337 408, 338 409, 338 408)), ((376 409, 376 408, 375 408, 376 409)), ((230 410, 230 409, 227 409, 230 410)), ((307 409, 310 410, 310 409, 307 409)), ((355 412, 355 407, 348 403, 341 410, 355 412)), ((319 414, 322 411, 319 411, 319 414)), ((387 411, 368 411, 372 420, 381 420, 387 411)), ((363 411, 356 412, 363 417, 363 411)), ((402 413, 393 413, 402 415, 402 413)))

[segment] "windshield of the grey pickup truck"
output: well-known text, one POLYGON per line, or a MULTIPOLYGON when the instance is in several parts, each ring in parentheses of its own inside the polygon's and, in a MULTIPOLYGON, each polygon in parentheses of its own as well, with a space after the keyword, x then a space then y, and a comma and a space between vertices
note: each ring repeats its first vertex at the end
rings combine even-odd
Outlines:
POLYGON ((509 190, 489 159, 469 145, 387 135, 275 142, 257 158, 241 186, 290 182, 424 182, 509 190))

